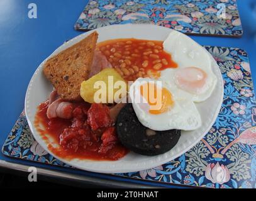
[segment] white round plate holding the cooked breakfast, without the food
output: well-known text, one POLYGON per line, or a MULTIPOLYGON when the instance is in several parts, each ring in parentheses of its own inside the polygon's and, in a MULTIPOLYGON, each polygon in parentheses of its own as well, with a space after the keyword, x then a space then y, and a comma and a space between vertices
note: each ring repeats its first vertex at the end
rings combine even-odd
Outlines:
MULTIPOLYGON (((125 24, 105 26, 103 28, 97 29, 96 31, 97 33, 99 33, 98 42, 100 42, 115 38, 165 40, 165 38, 167 38, 167 36, 169 35, 170 31, 174 30, 170 30, 169 28, 164 28, 162 26, 155 26, 149 24, 125 24)), ((82 35, 79 35, 72 40, 69 40, 67 43, 57 48, 57 50, 55 50, 55 52, 53 52, 50 57, 74 45, 90 33, 92 33, 92 31, 88 31, 87 33, 83 33, 82 35)), ((167 163, 168 161, 177 158, 178 156, 182 155, 187 150, 192 148, 192 146, 198 143, 204 137, 204 135, 208 133, 216 117, 218 116, 218 112, 220 111, 223 100, 223 80, 221 72, 216 62, 213 62, 213 72, 218 78, 216 88, 214 89, 213 94, 211 94, 211 97, 209 99, 200 104, 196 104, 201 114, 201 118, 203 119, 203 125, 196 131, 182 131, 179 142, 170 151, 158 156, 142 156, 130 152, 128 153, 128 155, 118 161, 92 161, 80 160, 75 158, 74 160, 68 161, 51 153, 51 151, 49 151, 49 149, 47 148, 48 144, 42 139, 40 134, 36 131, 36 128, 33 126, 38 105, 41 102, 47 100, 50 92, 52 91, 52 85, 50 84, 50 82, 48 82, 47 79, 45 79, 45 76, 42 72, 44 63, 45 61, 41 63, 40 66, 36 69, 36 72, 30 80, 30 84, 28 85, 28 89, 26 92, 25 112, 26 118, 28 119, 28 124, 36 141, 38 141, 38 143, 45 150, 47 150, 51 155, 55 156, 59 160, 64 161, 64 163, 67 163, 82 170, 101 173, 125 173, 131 171, 145 170, 167 163)), ((56 146, 55 143, 52 143, 52 145, 56 146)))

